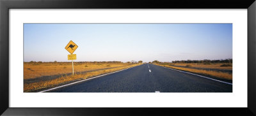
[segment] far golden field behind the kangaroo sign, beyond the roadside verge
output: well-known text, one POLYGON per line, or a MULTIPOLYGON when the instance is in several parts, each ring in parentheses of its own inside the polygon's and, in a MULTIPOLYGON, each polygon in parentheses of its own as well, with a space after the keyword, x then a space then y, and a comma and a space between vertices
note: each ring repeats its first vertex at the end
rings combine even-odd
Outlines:
MULTIPOLYGON (((81 71, 91 71, 94 69, 115 68, 120 66, 127 66, 129 64, 81 64, 74 62, 74 73, 81 71)), ((72 73, 72 64, 61 63, 42 63, 30 64, 24 63, 24 79, 36 78, 39 76, 61 75, 65 73, 72 73)))

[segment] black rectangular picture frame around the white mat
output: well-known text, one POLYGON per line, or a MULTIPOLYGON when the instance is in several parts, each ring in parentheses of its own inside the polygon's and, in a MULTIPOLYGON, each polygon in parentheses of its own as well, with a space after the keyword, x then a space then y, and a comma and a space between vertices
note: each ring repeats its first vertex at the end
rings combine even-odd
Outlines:
MULTIPOLYGON (((0 0, 0 114, 2 115, 256 115, 255 0, 0 0), (244 8, 248 10, 247 108, 10 108, 9 9, 17 8, 244 8), (165 114, 164 114, 164 113, 165 114)), ((236 101, 234 101, 236 102, 236 101)))

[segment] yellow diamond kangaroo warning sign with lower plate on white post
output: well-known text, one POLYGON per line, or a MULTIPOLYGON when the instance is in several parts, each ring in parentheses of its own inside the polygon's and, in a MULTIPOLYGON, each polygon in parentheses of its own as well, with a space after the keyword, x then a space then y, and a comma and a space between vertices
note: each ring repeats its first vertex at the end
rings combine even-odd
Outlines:
POLYGON ((70 53, 68 54, 68 60, 72 60, 72 72, 74 75, 74 62, 73 60, 76 60, 76 54, 73 54, 78 46, 73 41, 69 41, 68 45, 65 47, 65 49, 70 53))

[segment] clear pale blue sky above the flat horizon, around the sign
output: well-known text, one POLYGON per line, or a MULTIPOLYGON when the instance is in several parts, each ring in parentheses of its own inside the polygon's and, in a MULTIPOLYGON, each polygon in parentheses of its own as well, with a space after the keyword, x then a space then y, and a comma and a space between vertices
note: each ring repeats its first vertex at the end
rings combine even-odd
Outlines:
POLYGON ((24 24, 24 61, 232 59, 232 24, 24 24))

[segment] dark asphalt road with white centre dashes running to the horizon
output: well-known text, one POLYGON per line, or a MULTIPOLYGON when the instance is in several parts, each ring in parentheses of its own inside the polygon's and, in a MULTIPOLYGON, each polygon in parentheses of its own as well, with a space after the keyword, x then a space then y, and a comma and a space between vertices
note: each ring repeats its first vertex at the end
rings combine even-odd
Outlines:
POLYGON ((232 92, 232 85, 143 64, 48 92, 232 92))

